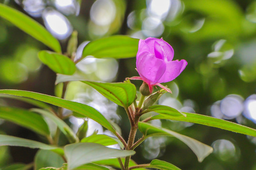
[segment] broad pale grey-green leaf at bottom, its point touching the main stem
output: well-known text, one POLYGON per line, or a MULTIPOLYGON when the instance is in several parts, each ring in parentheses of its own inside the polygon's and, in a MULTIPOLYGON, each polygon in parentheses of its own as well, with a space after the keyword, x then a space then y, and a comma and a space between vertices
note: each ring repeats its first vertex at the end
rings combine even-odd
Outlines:
POLYGON ((68 170, 73 170, 92 161, 100 161, 113 157, 125 157, 135 153, 134 151, 112 149, 94 143, 68 144, 64 147, 64 152, 68 162, 68 170))

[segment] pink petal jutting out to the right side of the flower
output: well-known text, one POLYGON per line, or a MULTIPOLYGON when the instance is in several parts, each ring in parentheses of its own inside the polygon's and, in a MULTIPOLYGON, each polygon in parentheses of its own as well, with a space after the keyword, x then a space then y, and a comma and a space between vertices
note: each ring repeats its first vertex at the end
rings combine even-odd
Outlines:
POLYGON ((158 83, 165 83, 174 80, 177 76, 181 74, 181 72, 187 66, 187 61, 182 60, 174 60, 166 63, 166 69, 163 76, 158 80, 158 83))

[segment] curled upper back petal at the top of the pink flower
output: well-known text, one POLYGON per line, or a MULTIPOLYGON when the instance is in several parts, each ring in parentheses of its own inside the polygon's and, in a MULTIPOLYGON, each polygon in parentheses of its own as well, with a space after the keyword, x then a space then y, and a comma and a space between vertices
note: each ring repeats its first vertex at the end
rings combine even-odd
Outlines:
POLYGON ((165 57, 165 60, 166 61, 172 61, 173 58, 174 58, 174 49, 170 44, 165 42, 162 38, 161 39, 151 38, 151 37, 147 38, 145 40, 145 43, 149 46, 149 51, 151 53, 155 52, 154 51, 155 42, 160 44, 160 46, 162 48, 162 51, 163 51, 163 54, 164 54, 164 57, 165 57))

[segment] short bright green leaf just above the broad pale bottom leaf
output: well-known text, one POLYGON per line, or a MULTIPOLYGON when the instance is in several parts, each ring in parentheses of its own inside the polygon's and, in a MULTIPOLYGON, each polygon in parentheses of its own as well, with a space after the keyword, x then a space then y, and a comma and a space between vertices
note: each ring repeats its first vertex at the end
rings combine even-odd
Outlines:
POLYGON ((121 148, 124 146, 118 138, 98 134, 85 137, 80 142, 91 142, 96 144, 102 144, 104 146, 108 146, 111 144, 119 144, 121 148))

